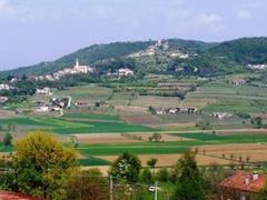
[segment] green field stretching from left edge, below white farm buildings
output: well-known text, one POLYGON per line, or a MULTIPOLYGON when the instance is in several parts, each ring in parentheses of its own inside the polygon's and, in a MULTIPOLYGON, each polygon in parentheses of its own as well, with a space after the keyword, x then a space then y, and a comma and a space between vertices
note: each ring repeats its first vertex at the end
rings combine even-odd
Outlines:
MULTIPOLYGON (((87 119, 82 116, 82 119, 87 119)), ((49 130, 55 133, 72 134, 72 133, 93 133, 93 132, 142 132, 152 131, 155 129, 148 128, 140 124, 128 124, 119 121, 117 117, 91 117, 89 119, 112 119, 113 121, 79 121, 71 119, 60 118, 38 118, 38 117, 26 117, 26 118, 9 118, 1 119, 0 126, 23 126, 28 130, 49 130)))

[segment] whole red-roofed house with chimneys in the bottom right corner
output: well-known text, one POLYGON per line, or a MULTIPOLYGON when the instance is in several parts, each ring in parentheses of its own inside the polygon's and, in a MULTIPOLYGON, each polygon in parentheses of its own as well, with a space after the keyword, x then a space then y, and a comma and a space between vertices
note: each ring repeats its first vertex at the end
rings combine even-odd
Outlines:
POLYGON ((220 199, 253 199, 265 187, 266 180, 265 174, 239 171, 219 184, 220 199))

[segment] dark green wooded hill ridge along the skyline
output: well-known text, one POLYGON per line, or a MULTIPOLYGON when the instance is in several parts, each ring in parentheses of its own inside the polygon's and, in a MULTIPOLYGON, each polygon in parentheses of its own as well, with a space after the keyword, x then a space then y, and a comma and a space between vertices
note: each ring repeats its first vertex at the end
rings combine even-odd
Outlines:
POLYGON ((141 72, 172 72, 185 68, 186 73, 227 73, 245 70, 249 63, 267 63, 267 38, 241 38, 220 43, 195 40, 167 39, 169 51, 196 54, 188 59, 171 58, 161 49, 154 57, 129 58, 135 52, 145 51, 157 41, 115 42, 93 44, 65 56, 56 61, 0 72, 2 76, 48 74, 73 66, 78 58, 80 63, 97 68, 100 72, 129 67, 141 72), (196 70, 197 68, 197 70, 196 70))

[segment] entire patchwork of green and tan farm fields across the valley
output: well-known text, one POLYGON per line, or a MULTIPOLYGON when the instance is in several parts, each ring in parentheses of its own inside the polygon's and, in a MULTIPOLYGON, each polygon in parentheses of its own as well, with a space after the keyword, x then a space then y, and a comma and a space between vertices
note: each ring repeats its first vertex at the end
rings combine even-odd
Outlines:
MULTIPOLYGON (((244 78, 247 76, 244 74, 244 78)), ((16 104, 0 110, 0 139, 11 124, 14 127, 14 141, 28 131, 50 131, 67 146, 77 148, 79 162, 85 167, 107 168, 126 151, 139 156, 144 166, 148 159, 157 158, 157 167, 170 167, 181 153, 196 149, 200 166, 239 164, 240 157, 243 161, 246 158, 249 158, 249 162, 264 161, 267 159, 267 129, 256 129, 250 118, 240 118, 236 113, 264 117, 267 111, 267 88, 234 86, 227 82, 228 79, 233 77, 177 80, 174 76, 150 74, 146 78, 157 83, 179 81, 197 86, 196 90, 186 93, 184 100, 178 97, 141 96, 141 90, 155 92, 151 86, 144 84, 113 83, 108 88, 88 84, 55 89, 55 97, 71 96, 72 103, 85 101, 89 107, 65 109, 63 116, 56 112, 37 113, 29 111, 29 108, 40 97, 30 97, 23 106, 18 107, 19 113, 11 111, 16 110, 16 104), (103 106, 95 107, 100 101, 103 106), (201 112, 152 116, 148 112, 149 106, 196 107, 201 112), (234 116, 218 119, 211 117, 210 112, 230 112, 234 116), (206 130, 199 126, 201 122, 208 122, 206 130), (155 133, 160 134, 160 141, 150 141, 155 133)), ((266 122, 266 118, 263 118, 264 126, 266 122)), ((0 144, 0 152, 12 150, 12 147, 0 144)))

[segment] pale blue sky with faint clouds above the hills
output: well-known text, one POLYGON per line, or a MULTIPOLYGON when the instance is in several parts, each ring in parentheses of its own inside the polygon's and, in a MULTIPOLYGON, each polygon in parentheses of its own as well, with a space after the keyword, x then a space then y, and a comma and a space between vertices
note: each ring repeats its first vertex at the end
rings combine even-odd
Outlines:
POLYGON ((267 0, 0 0, 0 70, 95 43, 267 36, 267 0))

